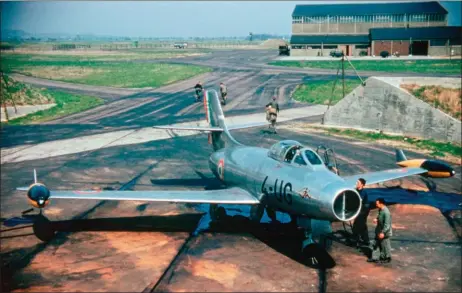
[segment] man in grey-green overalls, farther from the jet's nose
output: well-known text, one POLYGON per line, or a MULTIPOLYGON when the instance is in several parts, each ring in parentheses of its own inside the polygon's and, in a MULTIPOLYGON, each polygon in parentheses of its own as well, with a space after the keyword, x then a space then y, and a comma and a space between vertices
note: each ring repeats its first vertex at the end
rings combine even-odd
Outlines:
POLYGON ((385 206, 385 200, 378 198, 375 204, 379 208, 379 214, 374 223, 377 225, 375 228, 375 243, 371 257, 368 262, 391 262, 391 243, 390 237, 392 236, 391 229, 391 214, 390 210, 385 206), (380 251, 380 258, 378 257, 377 249, 380 251))

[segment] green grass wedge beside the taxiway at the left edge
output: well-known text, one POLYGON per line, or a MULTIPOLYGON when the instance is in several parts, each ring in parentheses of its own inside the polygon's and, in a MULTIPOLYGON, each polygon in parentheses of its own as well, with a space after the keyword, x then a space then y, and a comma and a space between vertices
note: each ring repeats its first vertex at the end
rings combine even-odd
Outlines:
POLYGON ((45 122, 62 116, 82 112, 104 103, 102 99, 96 97, 74 95, 54 90, 43 90, 43 92, 54 98, 56 106, 10 120, 6 124, 24 125, 45 122))

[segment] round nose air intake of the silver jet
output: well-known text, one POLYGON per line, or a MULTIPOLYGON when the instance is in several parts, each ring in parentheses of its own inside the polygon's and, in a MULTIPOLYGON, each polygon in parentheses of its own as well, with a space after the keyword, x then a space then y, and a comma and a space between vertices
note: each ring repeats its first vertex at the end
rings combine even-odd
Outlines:
POLYGON ((335 217, 340 221, 352 220, 361 210, 361 197, 354 190, 343 190, 335 197, 332 208, 335 217))

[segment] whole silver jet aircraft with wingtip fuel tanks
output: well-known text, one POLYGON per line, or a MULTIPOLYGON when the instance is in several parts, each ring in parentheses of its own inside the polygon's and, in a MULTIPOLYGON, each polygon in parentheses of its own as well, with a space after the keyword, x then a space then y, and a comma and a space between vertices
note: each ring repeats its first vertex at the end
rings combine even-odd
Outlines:
MULTIPOLYGON (((204 108, 208 127, 155 126, 159 129, 196 130, 209 133, 213 153, 209 167, 213 174, 227 187, 221 190, 204 191, 49 191, 37 182, 27 190, 30 203, 44 208, 52 198, 137 200, 172 203, 210 204, 210 216, 217 220, 219 204, 250 205, 250 219, 260 222, 266 209, 270 218, 280 211, 291 216, 304 231, 301 249, 316 250, 312 239, 311 220, 348 222, 353 220, 361 208, 361 197, 355 189, 359 178, 367 184, 421 174, 427 177, 451 177, 454 170, 447 164, 434 160, 407 160, 402 151, 397 151, 397 161, 407 168, 390 169, 353 176, 341 177, 333 172, 326 159, 313 149, 294 140, 275 143, 270 149, 245 146, 236 141, 230 130, 268 125, 267 123, 227 126, 216 91, 206 91, 204 108)), ((34 170, 35 172, 35 170, 34 170)), ((34 173, 35 174, 35 173, 34 173)), ((36 236, 49 241, 54 231, 42 218, 34 223, 36 236)))

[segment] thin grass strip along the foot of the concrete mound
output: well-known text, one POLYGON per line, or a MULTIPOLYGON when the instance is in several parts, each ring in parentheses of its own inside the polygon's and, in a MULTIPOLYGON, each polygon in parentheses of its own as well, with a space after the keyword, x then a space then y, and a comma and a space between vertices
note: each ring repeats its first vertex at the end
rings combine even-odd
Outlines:
POLYGON ((354 137, 366 141, 377 141, 377 140, 391 140, 391 141, 400 141, 409 143, 418 149, 429 150, 431 151, 432 156, 442 157, 446 154, 461 157, 462 156, 462 146, 460 144, 449 143, 449 142, 438 142, 435 140, 425 140, 425 139, 415 139, 407 138, 404 136, 394 136, 384 133, 376 132, 365 132, 354 129, 338 129, 338 128, 318 128, 324 129, 328 134, 333 135, 344 135, 349 137, 354 137))

